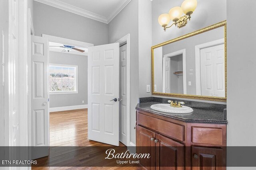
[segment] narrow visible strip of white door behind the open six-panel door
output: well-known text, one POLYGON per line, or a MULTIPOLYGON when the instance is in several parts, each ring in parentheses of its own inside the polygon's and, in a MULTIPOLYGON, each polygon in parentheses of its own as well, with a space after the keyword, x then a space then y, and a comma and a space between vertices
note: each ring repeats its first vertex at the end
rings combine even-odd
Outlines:
POLYGON ((120 47, 120 105, 119 105, 119 137, 125 146, 127 143, 127 45, 120 47))

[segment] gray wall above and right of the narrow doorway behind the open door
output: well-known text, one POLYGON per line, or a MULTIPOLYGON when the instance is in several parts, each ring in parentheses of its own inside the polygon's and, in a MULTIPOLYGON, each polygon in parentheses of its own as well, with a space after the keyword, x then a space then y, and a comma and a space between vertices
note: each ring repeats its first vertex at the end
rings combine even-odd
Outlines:
MULTIPOLYGON (((139 98, 139 59, 138 59, 138 0, 132 0, 109 24, 108 43, 114 43, 118 39, 130 33, 130 134, 132 143, 136 143, 135 107, 139 98)), ((148 74, 148 73, 147 73, 148 74)))

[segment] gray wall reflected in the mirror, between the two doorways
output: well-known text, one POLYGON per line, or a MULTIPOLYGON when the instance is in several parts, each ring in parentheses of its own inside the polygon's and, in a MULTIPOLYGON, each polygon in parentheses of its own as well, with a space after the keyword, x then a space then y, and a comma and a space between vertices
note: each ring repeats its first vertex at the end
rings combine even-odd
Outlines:
POLYGON ((224 39, 224 27, 212 29, 210 31, 189 37, 162 47, 163 55, 173 53, 178 50, 186 49, 186 86, 187 94, 196 95, 196 57, 195 46, 224 39), (193 70, 193 71, 190 71, 193 70), (188 86, 188 82, 191 86, 188 86))

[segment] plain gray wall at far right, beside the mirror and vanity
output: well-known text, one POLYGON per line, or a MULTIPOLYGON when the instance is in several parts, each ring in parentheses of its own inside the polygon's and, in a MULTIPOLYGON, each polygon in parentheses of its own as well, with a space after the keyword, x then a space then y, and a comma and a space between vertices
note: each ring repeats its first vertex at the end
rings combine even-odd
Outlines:
MULTIPOLYGON (((256 22, 246 27, 237 23, 244 20, 244 16, 248 21, 255 21, 252 12, 256 8, 256 1, 228 0, 227 6, 227 145, 256 146, 256 22), (234 16, 238 11, 243 15, 234 16), (247 102, 246 107, 238 105, 240 100, 247 102)), ((232 155, 227 154, 227 157, 232 161, 232 155)), ((253 170, 255 167, 227 168, 235 169, 253 170)))

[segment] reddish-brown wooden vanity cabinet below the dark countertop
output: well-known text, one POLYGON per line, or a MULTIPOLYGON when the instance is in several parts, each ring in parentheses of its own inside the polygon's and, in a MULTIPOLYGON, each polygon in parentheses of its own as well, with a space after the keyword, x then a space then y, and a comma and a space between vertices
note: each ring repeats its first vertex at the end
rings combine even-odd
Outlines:
POLYGON ((226 125, 184 123, 137 110, 137 153, 145 170, 226 170, 226 125))

